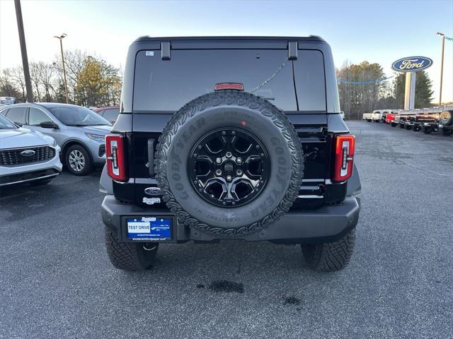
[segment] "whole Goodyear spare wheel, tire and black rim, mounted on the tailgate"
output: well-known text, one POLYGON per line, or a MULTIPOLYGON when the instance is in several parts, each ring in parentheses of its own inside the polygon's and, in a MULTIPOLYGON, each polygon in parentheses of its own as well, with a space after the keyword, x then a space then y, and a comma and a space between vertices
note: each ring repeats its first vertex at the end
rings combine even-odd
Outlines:
POLYGON ((220 237, 268 227, 302 183, 304 157, 283 112, 251 93, 197 97, 166 124, 156 151, 164 201, 184 225, 220 237))

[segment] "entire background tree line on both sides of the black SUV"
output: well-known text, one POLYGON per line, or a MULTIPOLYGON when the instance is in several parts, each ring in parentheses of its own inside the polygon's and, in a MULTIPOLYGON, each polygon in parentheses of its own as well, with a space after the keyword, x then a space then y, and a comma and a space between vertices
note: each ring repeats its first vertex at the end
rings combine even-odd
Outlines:
MULTIPOLYGON (((81 106, 115 106, 120 104, 122 78, 120 69, 100 57, 80 50, 64 53, 69 103, 81 106)), ((30 63, 34 102, 66 102, 61 57, 52 64, 30 63)), ((379 64, 345 63, 337 69, 340 107, 347 119, 361 119, 374 109, 401 109, 404 106, 405 77, 395 73, 392 81, 384 79, 379 64)), ((425 71, 418 71, 415 81, 415 108, 429 107, 432 83, 425 71)), ((16 97, 25 102, 25 78, 21 66, 4 69, 0 74, 0 96, 16 97)))

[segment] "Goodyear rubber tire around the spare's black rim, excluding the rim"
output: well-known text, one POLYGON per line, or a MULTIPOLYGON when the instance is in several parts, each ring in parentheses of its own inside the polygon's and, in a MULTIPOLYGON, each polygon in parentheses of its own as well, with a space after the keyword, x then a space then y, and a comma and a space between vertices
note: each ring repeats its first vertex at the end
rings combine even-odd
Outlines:
POLYGON ((215 237, 244 236, 273 224, 297 199, 304 169, 299 138, 285 114, 262 97, 234 90, 202 95, 173 114, 159 137, 155 163, 166 206, 184 225, 215 237), (203 200, 190 186, 187 162, 190 148, 203 133, 230 126, 246 126, 263 143, 273 170, 253 201, 222 208, 203 200), (280 150, 281 155, 277 154, 280 150), (277 180, 280 169, 282 181, 277 180))

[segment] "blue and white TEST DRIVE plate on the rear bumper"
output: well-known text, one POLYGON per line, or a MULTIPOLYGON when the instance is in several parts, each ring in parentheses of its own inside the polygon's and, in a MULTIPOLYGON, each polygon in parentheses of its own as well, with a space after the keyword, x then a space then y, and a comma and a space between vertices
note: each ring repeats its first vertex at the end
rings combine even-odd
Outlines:
POLYGON ((171 219, 159 217, 127 218, 127 237, 132 240, 171 239, 171 219))

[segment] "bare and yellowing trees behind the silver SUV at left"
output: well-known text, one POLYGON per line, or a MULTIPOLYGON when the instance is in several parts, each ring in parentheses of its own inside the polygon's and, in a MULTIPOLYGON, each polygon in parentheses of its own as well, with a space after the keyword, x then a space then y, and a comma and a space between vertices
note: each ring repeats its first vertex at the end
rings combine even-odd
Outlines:
MULTIPOLYGON (((96 107, 120 104, 120 69, 79 49, 64 52, 64 66, 69 103, 96 107)), ((61 57, 56 57, 51 64, 30 62, 29 68, 34 102, 66 102, 61 57)), ((16 97, 19 102, 25 102, 22 66, 1 71, 0 96, 16 97)))

